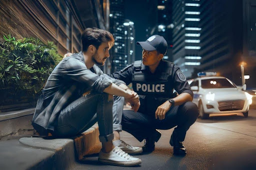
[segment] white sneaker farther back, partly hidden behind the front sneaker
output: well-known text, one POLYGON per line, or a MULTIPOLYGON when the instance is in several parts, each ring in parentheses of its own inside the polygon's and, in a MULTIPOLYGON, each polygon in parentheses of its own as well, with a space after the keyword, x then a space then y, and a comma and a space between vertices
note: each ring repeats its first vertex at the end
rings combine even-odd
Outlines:
POLYGON ((129 154, 129 155, 138 155, 143 152, 141 147, 132 147, 129 144, 126 144, 122 140, 116 140, 113 142, 113 145, 115 147, 119 147, 123 152, 129 154))

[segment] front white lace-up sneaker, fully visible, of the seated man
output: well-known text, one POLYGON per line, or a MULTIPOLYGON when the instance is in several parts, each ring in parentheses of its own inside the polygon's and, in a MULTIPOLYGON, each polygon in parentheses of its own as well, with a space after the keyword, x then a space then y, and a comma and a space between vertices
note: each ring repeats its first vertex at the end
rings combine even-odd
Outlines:
POLYGON ((100 151, 98 161, 103 164, 123 167, 131 167, 141 164, 140 159, 129 156, 118 147, 114 147, 109 153, 100 151))

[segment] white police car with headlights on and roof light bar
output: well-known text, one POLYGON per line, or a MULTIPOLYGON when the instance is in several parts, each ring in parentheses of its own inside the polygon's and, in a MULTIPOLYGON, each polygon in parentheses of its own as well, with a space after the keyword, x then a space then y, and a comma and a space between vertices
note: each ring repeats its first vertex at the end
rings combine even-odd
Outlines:
MULTIPOLYGON (((248 117, 252 96, 225 77, 215 76, 216 73, 201 72, 198 78, 188 83, 194 93, 193 102, 199 108, 199 116, 206 119, 209 114, 242 113, 248 117)), ((244 89, 245 90, 245 89, 244 89)))

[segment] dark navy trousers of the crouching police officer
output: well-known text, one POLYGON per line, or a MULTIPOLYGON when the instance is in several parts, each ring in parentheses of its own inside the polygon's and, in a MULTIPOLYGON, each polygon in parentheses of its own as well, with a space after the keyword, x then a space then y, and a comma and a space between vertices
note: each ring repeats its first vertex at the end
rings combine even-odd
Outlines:
POLYGON ((155 119, 152 113, 135 113, 133 110, 124 110, 122 114, 122 130, 133 135, 139 142, 150 137, 155 129, 167 130, 177 126, 173 134, 176 140, 184 141, 186 131, 198 117, 198 108, 192 102, 185 102, 174 106, 166 114, 165 119, 155 119))

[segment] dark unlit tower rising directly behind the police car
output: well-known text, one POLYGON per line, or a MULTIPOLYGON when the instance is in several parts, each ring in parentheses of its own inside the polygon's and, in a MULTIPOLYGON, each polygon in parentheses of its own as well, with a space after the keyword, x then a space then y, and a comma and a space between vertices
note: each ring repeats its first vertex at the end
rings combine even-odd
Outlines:
POLYGON ((242 1, 200 0, 200 71, 214 71, 240 84, 242 1))

